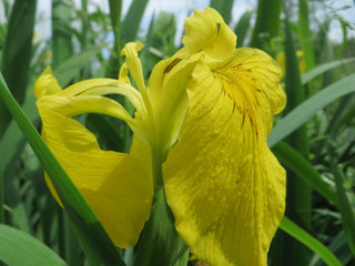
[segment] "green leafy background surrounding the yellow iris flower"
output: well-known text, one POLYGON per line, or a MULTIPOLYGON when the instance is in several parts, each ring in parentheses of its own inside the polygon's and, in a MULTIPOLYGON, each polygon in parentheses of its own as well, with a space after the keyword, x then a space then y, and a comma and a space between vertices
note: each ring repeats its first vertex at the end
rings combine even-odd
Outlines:
MULTIPOLYGON (((109 1, 109 13, 100 8, 89 13, 88 0, 81 1, 80 9, 72 1, 52 0, 52 35, 45 40, 33 32, 37 4, 36 0, 0 1, 4 16, 0 23, 0 65, 12 95, 38 130, 33 84, 48 64, 65 88, 90 78, 116 78, 119 51, 129 41, 144 43, 140 57, 145 78, 154 64, 179 49, 174 42, 176 20, 171 13, 155 13, 148 32, 140 33, 149 0, 133 0, 124 17, 120 0, 109 1), (112 33, 114 39, 108 41, 112 33)), ((239 0, 211 0, 210 4, 235 30, 239 47, 258 48, 275 59, 280 53, 285 57, 283 82, 288 102, 275 120, 268 144, 287 168, 290 219, 283 221, 273 241, 270 265, 355 265, 355 40, 349 37, 354 35, 354 24, 322 1, 258 0, 255 10, 245 12, 236 23, 231 22, 235 17, 232 7, 239 0), (322 21, 315 16, 320 7, 329 10, 322 21), (342 27, 339 42, 328 38, 334 21, 342 27), (300 58, 296 52, 301 50, 300 58), (300 71, 301 61, 305 72, 300 71)), ((354 6, 348 8, 355 10, 354 6)), ((19 130, 3 95, 0 265, 89 265, 89 259, 99 265, 103 257, 104 265, 111 265, 110 259, 116 262, 112 265, 131 265, 131 248, 119 250, 116 258, 110 250, 100 255, 97 244, 97 258, 84 255, 93 250, 92 246, 79 242, 95 237, 105 243, 105 234, 99 226, 84 236, 57 205, 43 181, 47 166, 19 130), (29 247, 31 254, 20 252, 29 247)), ((116 100, 133 112, 124 98, 116 100)), ((80 119, 103 150, 129 150, 131 132, 124 123, 99 114, 80 119)), ((23 129, 27 135, 31 132, 30 127, 23 129)), ((82 208, 73 207, 69 216, 82 217, 82 209, 84 203, 82 208)), ((94 219, 90 212, 87 215, 94 219)), ((195 263, 192 258, 189 264, 195 263)))

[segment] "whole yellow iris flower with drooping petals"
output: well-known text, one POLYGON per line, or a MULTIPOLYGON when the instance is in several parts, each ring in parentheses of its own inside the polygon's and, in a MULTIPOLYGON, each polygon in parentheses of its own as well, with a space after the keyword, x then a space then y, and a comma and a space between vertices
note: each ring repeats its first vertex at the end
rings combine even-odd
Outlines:
POLYGON ((195 257, 265 266, 285 207, 285 171, 266 144, 273 116, 285 106, 282 71, 263 51, 235 49, 236 35, 211 8, 195 10, 185 30, 184 48, 155 65, 148 85, 139 43, 122 50, 119 80, 62 90, 47 69, 34 88, 42 136, 116 246, 136 244, 154 188, 163 187, 195 257), (103 96, 112 93, 132 102, 134 116, 103 96), (130 125, 130 154, 100 150, 72 119, 90 112, 130 125))

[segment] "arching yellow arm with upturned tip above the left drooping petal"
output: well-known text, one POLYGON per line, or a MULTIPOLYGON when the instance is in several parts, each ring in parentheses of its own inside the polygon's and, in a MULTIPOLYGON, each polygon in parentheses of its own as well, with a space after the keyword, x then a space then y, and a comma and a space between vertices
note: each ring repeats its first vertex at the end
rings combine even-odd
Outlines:
POLYGON ((57 109, 64 115, 103 113, 125 121, 134 133, 142 139, 149 139, 151 135, 151 125, 148 123, 149 114, 142 95, 123 78, 122 80, 91 79, 61 90, 50 66, 48 66, 36 82, 34 92, 38 99, 45 95, 55 95, 55 98, 39 101, 38 104, 57 109), (51 89, 51 86, 54 86, 54 89, 51 89), (101 96, 104 94, 126 96, 136 110, 135 117, 133 119, 118 102, 101 96))

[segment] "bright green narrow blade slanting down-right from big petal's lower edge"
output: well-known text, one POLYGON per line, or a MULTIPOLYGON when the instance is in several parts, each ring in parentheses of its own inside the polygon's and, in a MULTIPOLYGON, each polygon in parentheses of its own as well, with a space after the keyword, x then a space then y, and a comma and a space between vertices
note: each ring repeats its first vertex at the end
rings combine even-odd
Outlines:
POLYGON ((339 260, 321 242, 303 231, 287 217, 281 221, 280 228, 320 255, 328 266, 342 266, 339 260))

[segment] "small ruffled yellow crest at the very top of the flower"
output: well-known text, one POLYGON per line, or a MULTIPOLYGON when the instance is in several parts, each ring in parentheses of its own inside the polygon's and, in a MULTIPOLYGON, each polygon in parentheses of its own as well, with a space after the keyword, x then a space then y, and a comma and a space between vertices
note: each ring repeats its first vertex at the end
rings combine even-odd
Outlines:
POLYGON ((194 10, 194 16, 186 19, 184 28, 186 33, 182 42, 190 53, 203 50, 210 57, 216 58, 226 58, 233 54, 236 35, 214 9, 194 10))

